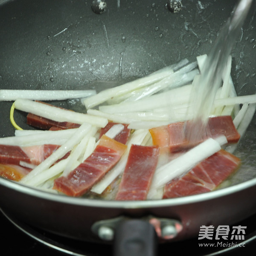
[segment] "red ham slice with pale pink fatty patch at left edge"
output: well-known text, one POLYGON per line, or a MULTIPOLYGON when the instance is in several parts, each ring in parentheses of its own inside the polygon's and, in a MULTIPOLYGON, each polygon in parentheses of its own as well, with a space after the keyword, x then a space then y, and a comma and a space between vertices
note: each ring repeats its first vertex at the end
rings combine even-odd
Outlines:
POLYGON ((0 145, 0 163, 20 165, 20 161, 23 161, 38 165, 58 148, 59 145, 51 144, 31 147, 0 145))

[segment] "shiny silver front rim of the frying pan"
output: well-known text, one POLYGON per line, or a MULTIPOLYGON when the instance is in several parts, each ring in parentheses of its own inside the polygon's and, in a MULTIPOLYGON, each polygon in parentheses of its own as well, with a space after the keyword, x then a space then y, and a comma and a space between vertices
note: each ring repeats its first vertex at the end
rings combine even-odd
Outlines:
POLYGON ((13 189, 32 197, 41 198, 44 200, 55 201, 58 203, 78 205, 84 207, 97 208, 122 208, 122 209, 137 209, 137 208, 156 208, 156 207, 173 207, 184 204, 194 204, 196 202, 206 201, 215 198, 221 198, 230 194, 234 194, 244 189, 256 186, 256 178, 244 181, 242 183, 211 191, 198 195, 184 196, 180 198, 146 200, 146 201, 111 201, 89 198, 74 198, 66 195, 53 194, 47 191, 39 190, 33 187, 25 186, 12 180, 7 180, 0 177, 0 186, 13 189))

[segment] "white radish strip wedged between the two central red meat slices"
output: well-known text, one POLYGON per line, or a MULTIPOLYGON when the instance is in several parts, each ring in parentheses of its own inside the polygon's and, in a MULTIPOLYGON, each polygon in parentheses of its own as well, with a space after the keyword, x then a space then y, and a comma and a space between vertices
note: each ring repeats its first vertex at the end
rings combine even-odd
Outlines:
POLYGON ((101 194, 107 188, 107 186, 124 171, 131 145, 140 145, 147 134, 147 130, 136 130, 133 134, 131 134, 131 138, 127 143, 127 149, 119 162, 102 178, 102 180, 93 186, 91 189, 92 192, 101 194))

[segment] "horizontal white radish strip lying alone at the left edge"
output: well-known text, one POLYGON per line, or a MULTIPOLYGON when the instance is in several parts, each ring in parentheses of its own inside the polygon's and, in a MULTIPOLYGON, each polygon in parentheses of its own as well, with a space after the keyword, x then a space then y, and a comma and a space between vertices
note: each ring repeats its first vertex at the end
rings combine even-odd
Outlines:
POLYGON ((81 99, 96 94, 96 90, 0 90, 0 101, 16 99, 64 100, 81 99))

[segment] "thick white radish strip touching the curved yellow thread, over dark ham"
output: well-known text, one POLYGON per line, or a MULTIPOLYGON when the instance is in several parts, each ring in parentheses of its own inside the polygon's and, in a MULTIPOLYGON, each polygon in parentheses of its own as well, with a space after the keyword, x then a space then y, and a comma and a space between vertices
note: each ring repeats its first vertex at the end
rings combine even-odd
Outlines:
POLYGON ((34 102, 29 99, 17 99, 14 104, 15 108, 18 110, 33 113, 57 122, 73 122, 77 124, 87 122, 98 127, 105 127, 108 123, 108 120, 102 117, 65 110, 41 102, 34 102))

